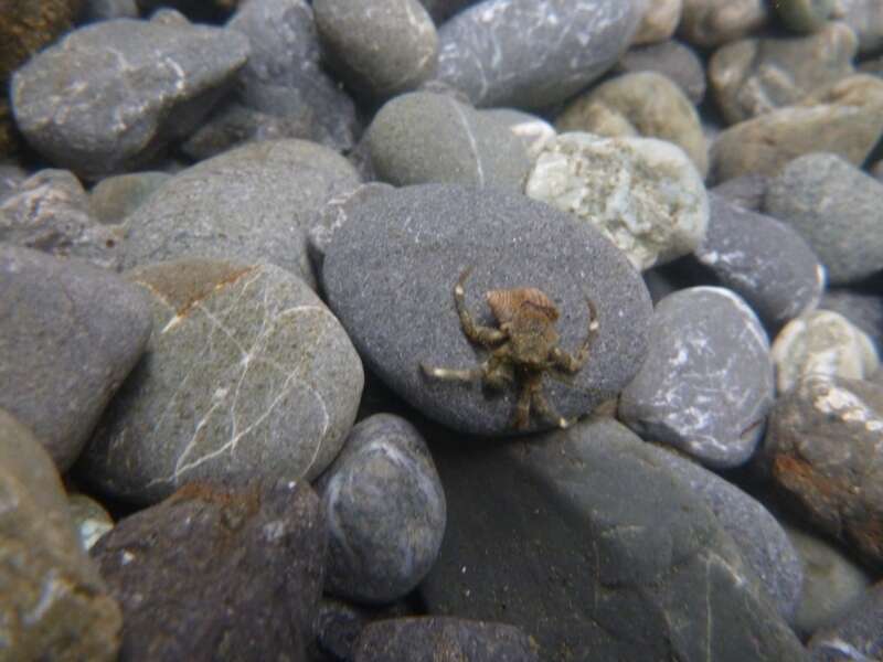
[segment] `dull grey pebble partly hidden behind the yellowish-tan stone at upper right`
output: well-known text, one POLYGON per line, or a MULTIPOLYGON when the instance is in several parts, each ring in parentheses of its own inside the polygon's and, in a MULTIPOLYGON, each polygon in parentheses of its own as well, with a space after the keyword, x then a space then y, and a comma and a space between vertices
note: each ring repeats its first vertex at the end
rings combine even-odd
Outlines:
POLYGON ((619 60, 615 72, 656 72, 668 76, 698 106, 705 96, 705 67, 690 46, 677 40, 631 47, 619 60))

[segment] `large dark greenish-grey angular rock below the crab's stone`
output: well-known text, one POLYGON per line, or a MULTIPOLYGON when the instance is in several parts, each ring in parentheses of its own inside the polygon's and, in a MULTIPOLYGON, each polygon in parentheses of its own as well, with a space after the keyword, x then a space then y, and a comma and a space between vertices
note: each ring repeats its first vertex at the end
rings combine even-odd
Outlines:
POLYGON ((429 442, 448 500, 429 612, 517 626, 541 660, 805 659, 703 499, 623 425, 429 442))

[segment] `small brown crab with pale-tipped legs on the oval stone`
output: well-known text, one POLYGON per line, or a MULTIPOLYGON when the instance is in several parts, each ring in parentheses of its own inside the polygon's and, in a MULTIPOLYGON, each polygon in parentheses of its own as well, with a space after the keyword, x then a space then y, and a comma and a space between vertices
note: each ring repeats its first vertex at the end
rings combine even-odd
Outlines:
POLYGON ((576 353, 570 354, 558 346, 555 330, 558 309, 545 292, 533 287, 490 290, 485 296, 499 328, 477 324, 465 303, 465 285, 470 273, 471 268, 466 268, 460 274, 454 287, 454 303, 462 332, 471 342, 490 350, 490 355, 471 369, 436 367, 421 363, 421 370, 427 377, 436 380, 481 380, 483 385, 494 389, 518 383, 520 391, 513 418, 513 427, 518 430, 530 425, 531 408, 557 427, 571 426, 574 420, 558 415, 543 395, 543 375, 550 371, 575 375, 588 361, 588 352, 598 331, 597 313, 592 300, 586 299, 588 332, 576 353))

